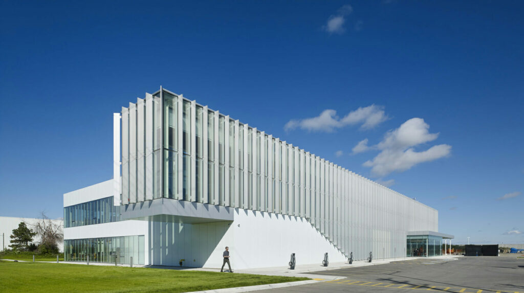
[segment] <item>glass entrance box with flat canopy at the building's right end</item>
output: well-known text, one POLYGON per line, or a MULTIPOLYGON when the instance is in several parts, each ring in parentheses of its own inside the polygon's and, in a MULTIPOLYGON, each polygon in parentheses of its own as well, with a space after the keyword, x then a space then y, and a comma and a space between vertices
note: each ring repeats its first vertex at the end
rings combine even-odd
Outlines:
POLYGON ((442 239, 453 239, 453 235, 433 231, 411 231, 406 236, 406 256, 442 255, 442 239))

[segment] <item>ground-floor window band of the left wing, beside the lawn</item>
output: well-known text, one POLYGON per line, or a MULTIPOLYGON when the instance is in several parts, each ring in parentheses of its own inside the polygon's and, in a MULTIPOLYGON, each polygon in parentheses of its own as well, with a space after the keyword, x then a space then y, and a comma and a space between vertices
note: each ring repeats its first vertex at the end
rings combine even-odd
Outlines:
POLYGON ((144 235, 64 240, 68 262, 144 264, 144 235))

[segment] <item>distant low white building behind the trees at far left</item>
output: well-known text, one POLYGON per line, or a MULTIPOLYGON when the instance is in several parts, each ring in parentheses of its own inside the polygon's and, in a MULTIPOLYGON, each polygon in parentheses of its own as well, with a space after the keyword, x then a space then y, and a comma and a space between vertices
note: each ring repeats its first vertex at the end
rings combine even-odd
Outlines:
MULTIPOLYGON (((10 249, 9 245, 11 245, 11 235, 13 234, 13 230, 18 229, 18 225, 21 222, 26 223, 27 228, 34 230, 33 228, 41 222, 42 219, 38 218, 18 218, 18 217, 0 217, 0 251, 4 251, 6 249, 10 249)), ((61 219, 56 220, 50 220, 46 219, 48 223, 52 223, 56 227, 61 227, 60 229, 63 229, 63 221, 61 219)), ((34 243, 40 242, 40 236, 35 235, 33 238, 34 243)), ((58 250, 63 251, 64 249, 64 243, 59 242, 58 243, 58 250)))

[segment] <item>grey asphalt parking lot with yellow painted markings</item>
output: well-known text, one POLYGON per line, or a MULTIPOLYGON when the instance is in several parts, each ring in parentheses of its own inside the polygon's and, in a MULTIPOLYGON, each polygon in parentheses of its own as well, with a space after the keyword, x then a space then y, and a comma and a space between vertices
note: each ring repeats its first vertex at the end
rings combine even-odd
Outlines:
POLYGON ((271 292, 444 292, 524 293, 524 258, 520 254, 418 259, 389 264, 311 272, 345 279, 271 289, 271 292))

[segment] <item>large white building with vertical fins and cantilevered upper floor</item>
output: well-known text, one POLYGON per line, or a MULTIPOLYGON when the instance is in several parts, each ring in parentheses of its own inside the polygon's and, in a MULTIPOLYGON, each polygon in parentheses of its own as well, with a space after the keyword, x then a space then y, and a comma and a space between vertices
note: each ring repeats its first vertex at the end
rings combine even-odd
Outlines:
POLYGON ((66 260, 221 267, 229 246, 234 268, 299 266, 453 238, 435 209, 166 89, 113 117, 114 178, 64 194, 66 260))

